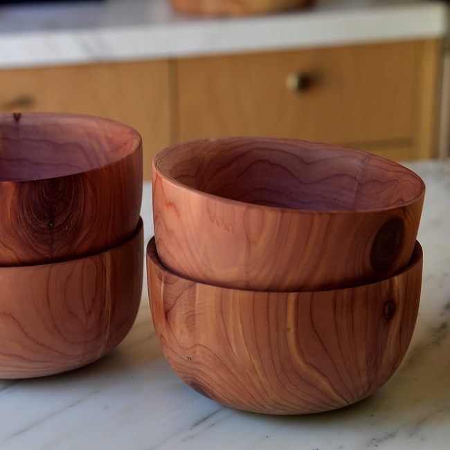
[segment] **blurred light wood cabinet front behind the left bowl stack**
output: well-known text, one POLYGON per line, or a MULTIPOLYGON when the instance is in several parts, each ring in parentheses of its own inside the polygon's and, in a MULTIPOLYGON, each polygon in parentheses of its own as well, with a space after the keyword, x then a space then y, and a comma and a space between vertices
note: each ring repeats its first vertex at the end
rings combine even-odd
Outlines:
POLYGON ((143 138, 144 178, 170 144, 169 62, 0 71, 0 110, 56 111, 119 120, 143 138))

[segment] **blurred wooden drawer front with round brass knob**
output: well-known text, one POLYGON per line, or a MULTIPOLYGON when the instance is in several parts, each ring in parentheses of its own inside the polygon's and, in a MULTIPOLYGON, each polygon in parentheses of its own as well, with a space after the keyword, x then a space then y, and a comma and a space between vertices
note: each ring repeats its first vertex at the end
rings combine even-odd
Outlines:
POLYGON ((415 57, 416 42, 397 42, 179 60, 179 140, 410 138, 415 57))

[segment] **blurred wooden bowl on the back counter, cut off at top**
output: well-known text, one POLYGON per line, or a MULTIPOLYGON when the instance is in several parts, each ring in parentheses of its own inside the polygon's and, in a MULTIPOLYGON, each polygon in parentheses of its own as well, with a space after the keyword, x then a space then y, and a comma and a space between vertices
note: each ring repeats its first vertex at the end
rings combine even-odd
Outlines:
POLYGON ((310 6, 313 0, 170 0, 172 8, 205 16, 269 14, 310 6))

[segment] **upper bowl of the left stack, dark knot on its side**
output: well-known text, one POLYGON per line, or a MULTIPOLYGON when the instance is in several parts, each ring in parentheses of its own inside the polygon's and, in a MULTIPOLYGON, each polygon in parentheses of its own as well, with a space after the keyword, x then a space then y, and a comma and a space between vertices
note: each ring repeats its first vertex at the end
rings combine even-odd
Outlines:
POLYGON ((128 240, 141 136, 104 118, 0 115, 0 266, 80 258, 128 240))

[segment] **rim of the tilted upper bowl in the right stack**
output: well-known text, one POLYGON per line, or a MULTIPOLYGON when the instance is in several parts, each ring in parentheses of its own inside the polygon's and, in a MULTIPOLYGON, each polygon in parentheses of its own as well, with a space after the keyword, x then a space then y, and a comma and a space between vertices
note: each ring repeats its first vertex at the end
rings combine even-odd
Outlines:
POLYGON ((255 208, 258 210, 265 210, 267 212, 278 212, 283 214, 318 214, 318 215, 335 215, 335 214, 361 214, 361 213, 383 213, 388 211, 394 211, 397 209, 405 208, 406 206, 409 206, 411 204, 415 204, 417 201, 420 201, 425 196, 426 186, 423 181, 423 179, 416 174, 413 170, 408 169, 406 166, 399 164, 395 161, 391 161, 390 159, 384 158, 383 156, 378 156, 375 154, 370 154, 368 152, 362 152, 361 150, 355 150, 348 147, 343 147, 342 145, 334 145, 329 143, 321 143, 316 141, 303 141, 300 139, 291 139, 291 138, 273 138, 273 137, 265 137, 265 136, 219 136, 219 137, 213 137, 213 138, 199 138, 199 139, 193 139, 190 141, 183 141, 179 142, 173 145, 170 145, 169 147, 165 147, 165 149, 161 150, 156 156, 154 157, 152 161, 152 186, 154 186, 154 181, 156 177, 155 174, 158 177, 161 177, 161 179, 165 179, 165 181, 170 181, 172 185, 175 187, 187 190, 192 195, 197 195, 199 197, 204 197, 211 201, 220 201, 224 204, 227 204, 229 206, 235 206, 235 207, 244 207, 244 208, 255 208), (375 161, 387 161, 390 165, 393 167, 399 168, 402 170, 402 172, 410 175, 411 177, 415 178, 419 185, 420 185, 420 192, 419 194, 414 197, 413 199, 409 201, 405 201, 402 204, 396 205, 396 206, 388 206, 386 208, 368 208, 368 209, 356 209, 356 210, 310 210, 310 209, 295 209, 295 208, 282 208, 280 206, 266 206, 266 205, 259 205, 259 204, 251 204, 247 203, 245 201, 240 200, 233 200, 233 199, 227 199, 226 197, 220 197, 219 195, 210 194, 208 192, 204 192, 202 190, 198 190, 195 188, 191 188, 190 186, 187 186, 186 184, 181 183, 180 181, 177 181, 174 179, 170 174, 165 172, 165 170, 161 169, 160 166, 160 160, 165 157, 169 152, 176 151, 179 149, 179 147, 183 147, 185 145, 194 144, 194 143, 205 143, 205 142, 226 142, 226 141, 237 141, 237 140, 251 140, 251 141, 260 141, 260 142, 269 142, 269 143, 289 143, 289 144, 296 144, 301 143, 303 145, 322 145, 323 147, 329 147, 336 150, 343 151, 348 154, 363 154, 366 153, 366 158, 375 160, 375 161))

